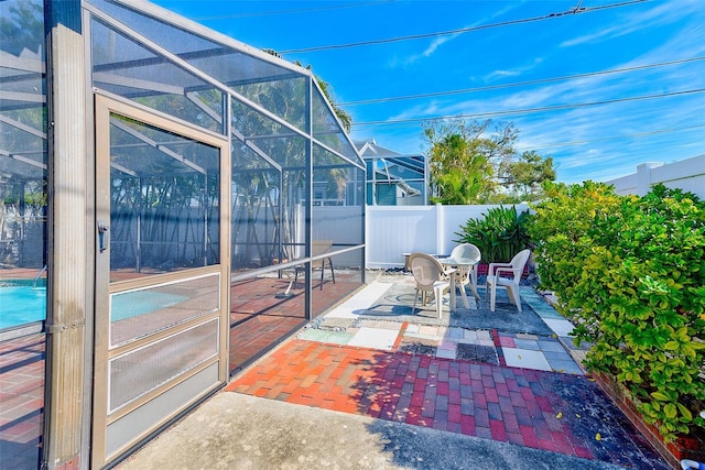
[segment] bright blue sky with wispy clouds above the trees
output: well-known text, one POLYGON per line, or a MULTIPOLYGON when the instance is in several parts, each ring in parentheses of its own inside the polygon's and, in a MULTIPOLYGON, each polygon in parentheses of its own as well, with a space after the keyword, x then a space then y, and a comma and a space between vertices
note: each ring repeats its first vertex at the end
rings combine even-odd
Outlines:
POLYGON ((352 139, 399 153, 465 116, 513 122, 564 183, 705 154, 703 0, 154 2, 311 65, 352 139))

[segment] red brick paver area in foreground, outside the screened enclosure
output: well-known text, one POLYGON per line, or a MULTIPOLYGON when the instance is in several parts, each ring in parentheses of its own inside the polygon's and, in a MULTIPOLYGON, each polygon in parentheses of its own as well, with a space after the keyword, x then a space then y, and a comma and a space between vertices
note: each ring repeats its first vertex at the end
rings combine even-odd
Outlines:
POLYGON ((627 468, 665 468, 586 376, 294 339, 226 390, 627 468))

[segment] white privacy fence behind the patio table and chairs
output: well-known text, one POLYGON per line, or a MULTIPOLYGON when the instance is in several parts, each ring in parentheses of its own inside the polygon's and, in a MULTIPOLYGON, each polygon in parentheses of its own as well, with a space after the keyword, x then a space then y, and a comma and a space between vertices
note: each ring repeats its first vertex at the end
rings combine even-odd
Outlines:
MULTIPOLYGON (((367 206, 366 266, 401 267, 404 253, 449 254, 460 226, 498 206, 367 206)), ((517 210, 528 206, 517 205, 517 210)))

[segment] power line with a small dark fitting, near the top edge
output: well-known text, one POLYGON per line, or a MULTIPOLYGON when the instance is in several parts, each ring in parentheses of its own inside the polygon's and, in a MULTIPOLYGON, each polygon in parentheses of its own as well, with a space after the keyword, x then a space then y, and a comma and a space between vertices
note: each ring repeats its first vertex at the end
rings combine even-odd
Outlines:
POLYGON ((358 47, 358 46, 367 46, 367 45, 375 45, 375 44, 387 44, 387 43, 393 43, 393 42, 400 42, 400 41, 421 40, 421 39, 425 39, 425 37, 445 36, 445 35, 449 35, 449 34, 467 33, 467 32, 470 32, 470 31, 488 30, 488 29, 491 29, 491 28, 509 26, 509 25, 512 25, 512 24, 532 23, 532 22, 535 22, 535 21, 549 20, 549 19, 553 19, 553 18, 565 17, 565 15, 568 15, 568 14, 589 13, 589 12, 593 12, 593 11, 606 10, 606 9, 610 9, 610 8, 627 7, 627 6, 634 4, 634 3, 642 3, 644 1, 649 1, 649 0, 631 0, 631 1, 626 1, 626 2, 621 2, 621 3, 605 4, 605 6, 601 6, 601 7, 589 7, 589 8, 586 8, 586 7, 578 8, 578 7, 576 7, 576 8, 573 8, 571 10, 561 12, 561 13, 549 13, 549 14, 544 14, 544 15, 541 15, 541 17, 524 18, 524 19, 520 19, 520 20, 502 21, 500 23, 481 24, 479 26, 460 28, 458 30, 441 31, 441 32, 425 33, 425 34, 412 34, 412 35, 408 35, 408 36, 388 37, 388 39, 383 39, 383 40, 360 41, 360 42, 347 43, 347 44, 330 44, 330 45, 325 45, 325 46, 293 48, 293 50, 288 50, 288 51, 279 51, 279 53, 282 54, 282 55, 284 55, 284 54, 296 54, 296 53, 302 53, 302 52, 317 52, 317 51, 327 51, 327 50, 335 50, 335 48, 347 48, 347 47, 358 47))

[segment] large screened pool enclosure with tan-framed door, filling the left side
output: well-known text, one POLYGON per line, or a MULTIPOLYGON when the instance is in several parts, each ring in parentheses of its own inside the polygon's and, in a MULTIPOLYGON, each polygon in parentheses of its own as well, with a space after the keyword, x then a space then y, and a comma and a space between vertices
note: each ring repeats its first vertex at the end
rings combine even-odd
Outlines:
POLYGON ((0 468, 110 467, 365 283, 365 164, 310 70, 149 2, 0 33, 0 468))

